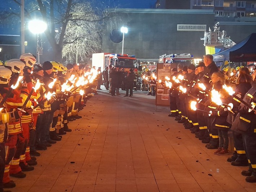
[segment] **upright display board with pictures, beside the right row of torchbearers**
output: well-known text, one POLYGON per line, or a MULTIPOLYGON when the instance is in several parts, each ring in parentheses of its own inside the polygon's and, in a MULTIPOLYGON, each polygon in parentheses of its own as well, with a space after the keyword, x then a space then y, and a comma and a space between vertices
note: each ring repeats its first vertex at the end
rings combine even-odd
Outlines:
MULTIPOLYGON (((165 77, 171 76, 172 68, 177 67, 176 63, 157 63, 156 67, 156 76, 158 81, 162 80, 162 83, 165 84, 165 77)), ((157 83, 156 84, 156 97, 155 102, 156 105, 170 105, 170 98, 169 98, 169 88, 166 88, 163 84, 157 83)))

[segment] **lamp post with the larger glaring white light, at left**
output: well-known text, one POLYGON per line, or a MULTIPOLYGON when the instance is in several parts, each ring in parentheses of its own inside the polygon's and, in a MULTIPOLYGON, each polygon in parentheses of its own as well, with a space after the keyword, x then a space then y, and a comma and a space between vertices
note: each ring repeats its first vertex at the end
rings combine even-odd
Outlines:
POLYGON ((42 43, 41 43, 41 33, 43 33, 47 29, 47 24, 43 21, 34 19, 28 23, 28 29, 37 35, 37 63, 40 63, 40 54, 42 54, 42 43))

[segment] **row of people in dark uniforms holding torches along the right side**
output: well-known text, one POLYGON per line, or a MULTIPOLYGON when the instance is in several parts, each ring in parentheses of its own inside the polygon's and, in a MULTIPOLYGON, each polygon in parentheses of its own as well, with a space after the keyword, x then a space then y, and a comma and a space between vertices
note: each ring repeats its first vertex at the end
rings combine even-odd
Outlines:
POLYGON ((189 129, 195 137, 215 149, 216 155, 229 155, 229 135, 234 140, 233 166, 249 166, 242 171, 247 182, 256 182, 256 86, 247 67, 227 75, 205 55, 193 64, 172 69, 169 86, 169 117, 189 129), (233 81, 227 81, 229 78, 233 81), (235 79, 235 80, 234 80, 235 79), (232 89, 233 87, 233 89, 232 89))

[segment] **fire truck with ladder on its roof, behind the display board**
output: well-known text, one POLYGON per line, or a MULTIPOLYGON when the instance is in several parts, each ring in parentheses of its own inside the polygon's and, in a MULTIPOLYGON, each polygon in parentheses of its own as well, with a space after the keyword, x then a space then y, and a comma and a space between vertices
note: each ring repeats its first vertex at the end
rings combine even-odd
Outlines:
POLYGON ((181 63, 184 66, 188 66, 189 64, 193 64, 193 61, 194 61, 194 57, 190 53, 169 54, 169 55, 164 54, 159 56, 158 63, 173 63, 173 65, 178 65, 178 63, 181 63))

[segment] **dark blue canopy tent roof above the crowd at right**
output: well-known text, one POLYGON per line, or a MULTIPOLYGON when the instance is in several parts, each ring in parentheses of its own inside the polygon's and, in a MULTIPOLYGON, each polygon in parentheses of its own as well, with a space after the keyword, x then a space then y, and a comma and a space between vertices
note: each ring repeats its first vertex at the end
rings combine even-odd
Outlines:
POLYGON ((246 37, 240 43, 222 52, 213 54, 215 62, 244 62, 256 61, 256 33, 246 37))

